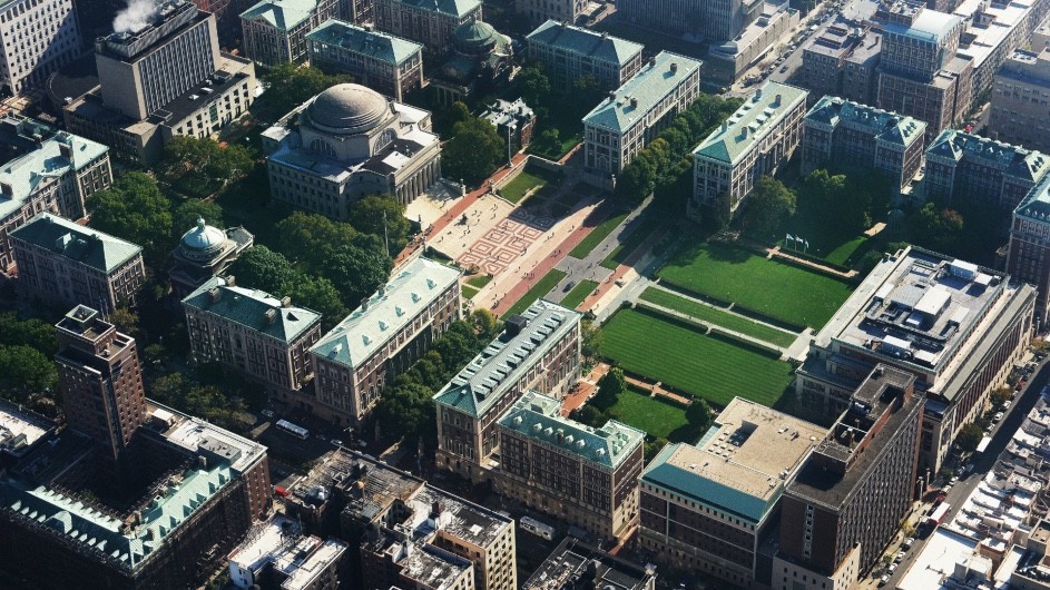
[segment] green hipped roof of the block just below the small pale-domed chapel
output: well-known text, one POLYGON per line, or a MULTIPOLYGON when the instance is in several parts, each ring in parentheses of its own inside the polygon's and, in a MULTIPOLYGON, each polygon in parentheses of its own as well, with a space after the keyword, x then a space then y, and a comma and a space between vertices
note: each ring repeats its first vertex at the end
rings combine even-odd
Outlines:
POLYGON ((281 299, 263 291, 232 287, 212 277, 183 299, 183 305, 236 322, 285 344, 321 322, 321 314, 305 307, 284 307, 281 299))

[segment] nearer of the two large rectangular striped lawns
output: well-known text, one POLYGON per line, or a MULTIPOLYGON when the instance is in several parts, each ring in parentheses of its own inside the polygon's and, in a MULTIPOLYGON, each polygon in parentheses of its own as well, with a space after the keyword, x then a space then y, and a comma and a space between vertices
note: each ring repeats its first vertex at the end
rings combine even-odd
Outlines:
POLYGON ((600 351, 625 371, 720 407, 737 395, 772 406, 792 382, 785 362, 644 311, 617 312, 601 328, 600 351))

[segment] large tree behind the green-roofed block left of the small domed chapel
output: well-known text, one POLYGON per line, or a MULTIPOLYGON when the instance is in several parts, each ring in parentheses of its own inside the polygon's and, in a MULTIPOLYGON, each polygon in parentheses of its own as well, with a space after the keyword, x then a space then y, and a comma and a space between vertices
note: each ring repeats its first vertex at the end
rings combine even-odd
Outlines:
POLYGON ((170 249, 171 203, 143 173, 119 176, 87 200, 91 227, 138 244, 159 267, 170 249))

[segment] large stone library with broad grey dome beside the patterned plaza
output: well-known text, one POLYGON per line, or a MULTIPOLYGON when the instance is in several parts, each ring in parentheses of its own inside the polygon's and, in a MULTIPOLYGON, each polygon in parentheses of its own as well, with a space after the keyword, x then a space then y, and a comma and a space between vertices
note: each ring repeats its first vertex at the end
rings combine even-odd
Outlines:
POLYGON ((441 178, 430 112, 356 83, 328 88, 263 132, 272 196, 337 220, 367 195, 408 205, 441 178))

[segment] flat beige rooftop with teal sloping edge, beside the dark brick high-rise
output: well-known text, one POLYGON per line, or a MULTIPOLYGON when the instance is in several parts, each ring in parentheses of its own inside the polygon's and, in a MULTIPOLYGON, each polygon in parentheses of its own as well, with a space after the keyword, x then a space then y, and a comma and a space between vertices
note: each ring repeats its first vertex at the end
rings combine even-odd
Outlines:
POLYGON ((784 481, 826 432, 734 397, 696 445, 665 446, 642 479, 757 523, 776 503, 784 481))

